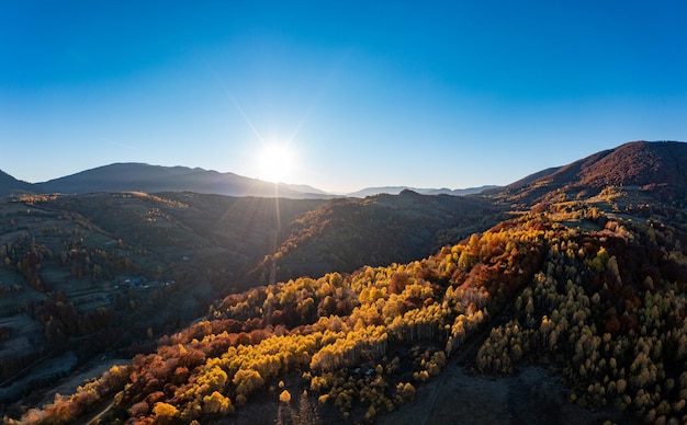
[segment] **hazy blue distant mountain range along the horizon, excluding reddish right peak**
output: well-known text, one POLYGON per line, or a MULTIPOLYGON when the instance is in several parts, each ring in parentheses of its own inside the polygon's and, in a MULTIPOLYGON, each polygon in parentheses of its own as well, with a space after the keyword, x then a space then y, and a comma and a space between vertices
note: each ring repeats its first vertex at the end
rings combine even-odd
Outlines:
MULTIPOLYGON (((407 186, 370 187, 342 196, 365 197, 381 193, 396 195, 408 188, 426 195, 469 195, 480 193, 484 188, 489 187, 495 186, 455 191, 449 188, 412 188, 407 186)), ((294 199, 337 197, 335 194, 308 185, 274 184, 235 173, 219 173, 217 171, 187 166, 113 163, 34 184, 16 180, 0 171, 0 196, 24 193, 85 194, 93 192, 195 192, 238 197, 259 196, 294 199)))

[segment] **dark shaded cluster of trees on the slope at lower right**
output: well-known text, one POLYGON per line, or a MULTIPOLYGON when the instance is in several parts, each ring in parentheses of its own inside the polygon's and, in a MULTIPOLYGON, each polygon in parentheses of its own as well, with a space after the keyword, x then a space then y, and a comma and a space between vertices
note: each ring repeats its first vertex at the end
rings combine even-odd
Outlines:
POLYGON ((583 405, 687 422, 687 252, 684 229, 605 221, 556 232, 547 262, 477 354, 484 372, 556 364, 583 405))

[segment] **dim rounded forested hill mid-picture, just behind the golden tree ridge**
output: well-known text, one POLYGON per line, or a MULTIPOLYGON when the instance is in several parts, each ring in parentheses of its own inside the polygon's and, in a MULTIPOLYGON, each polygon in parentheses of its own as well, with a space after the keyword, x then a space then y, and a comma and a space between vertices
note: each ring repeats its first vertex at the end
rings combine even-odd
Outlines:
POLYGON ((269 284, 362 265, 421 259, 503 219, 503 205, 480 197, 375 195, 335 199, 291 225, 290 234, 247 280, 269 284))

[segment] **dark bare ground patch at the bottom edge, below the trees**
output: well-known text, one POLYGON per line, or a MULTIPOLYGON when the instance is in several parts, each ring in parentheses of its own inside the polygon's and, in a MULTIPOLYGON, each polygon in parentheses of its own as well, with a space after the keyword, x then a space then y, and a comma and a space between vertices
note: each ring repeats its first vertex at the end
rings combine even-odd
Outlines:
POLYGON ((419 424, 601 424, 639 423, 605 410, 590 412, 567 401, 563 379, 542 367, 529 366, 508 377, 469 375, 452 364, 420 387, 413 403, 380 417, 384 425, 419 424))

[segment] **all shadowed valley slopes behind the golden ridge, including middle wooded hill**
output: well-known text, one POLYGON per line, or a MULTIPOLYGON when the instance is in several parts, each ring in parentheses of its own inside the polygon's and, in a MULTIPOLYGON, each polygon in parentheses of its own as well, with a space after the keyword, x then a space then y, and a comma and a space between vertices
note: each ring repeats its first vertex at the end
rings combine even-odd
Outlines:
POLYGON ((65 352, 76 363, 41 381, 102 353, 146 349, 149 335, 204 314, 216 297, 260 284, 255 275, 269 264, 263 259, 283 255, 295 264, 283 263, 285 272, 297 267, 311 276, 352 272, 370 259, 404 262, 488 228, 499 210, 475 199, 406 195, 325 200, 173 192, 7 199, 0 204, 7 218, 0 236, 0 403, 22 394, 21 376, 33 376, 65 352), (350 216, 350 208, 359 214, 350 216), (348 225, 331 227, 333 218, 348 225), (313 228, 323 232, 308 233, 313 228), (325 266, 307 256, 330 249, 333 240, 346 241, 344 254, 325 257, 325 266))

